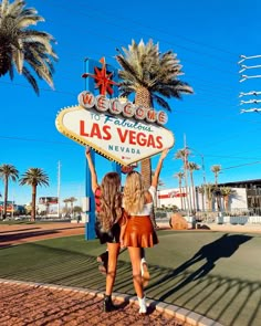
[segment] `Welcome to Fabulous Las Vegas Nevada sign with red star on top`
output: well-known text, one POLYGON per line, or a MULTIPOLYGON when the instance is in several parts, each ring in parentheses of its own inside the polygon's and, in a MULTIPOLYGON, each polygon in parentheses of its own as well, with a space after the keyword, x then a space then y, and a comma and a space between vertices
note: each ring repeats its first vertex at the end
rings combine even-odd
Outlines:
POLYGON ((152 157, 175 144, 174 134, 164 127, 167 114, 164 111, 136 106, 121 98, 108 98, 113 94, 113 73, 94 67, 92 77, 100 95, 90 91, 79 94, 79 105, 63 108, 56 116, 58 130, 72 140, 90 146, 97 153, 122 166, 130 166, 152 157))

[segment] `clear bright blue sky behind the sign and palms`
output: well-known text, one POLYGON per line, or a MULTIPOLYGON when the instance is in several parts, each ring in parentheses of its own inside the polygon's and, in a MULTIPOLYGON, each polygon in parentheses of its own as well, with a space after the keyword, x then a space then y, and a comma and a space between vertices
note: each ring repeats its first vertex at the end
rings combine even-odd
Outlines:
MULTIPOLYGON (((175 134, 160 179, 166 188, 178 186, 173 176, 181 168, 175 153, 187 146, 194 149, 191 161, 205 161, 207 182, 213 182, 212 165, 221 165, 220 182, 261 178, 261 113, 240 114, 239 93, 261 91, 260 78, 240 83, 240 55, 260 55, 261 2, 258 0, 175 1, 155 6, 152 1, 40 1, 30 0, 45 18, 38 29, 51 33, 60 60, 55 65, 55 91, 39 83, 36 96, 22 76, 0 78, 1 123, 0 164, 12 164, 20 173, 30 167, 42 168, 50 187, 38 196, 56 196, 58 162, 61 162, 61 199, 80 198, 85 191, 84 148, 61 135, 54 125, 58 112, 77 103, 84 90, 84 59, 100 60, 118 67, 116 48, 132 39, 153 39, 159 50, 173 50, 182 65, 184 76, 195 90, 182 101, 173 99, 167 127, 175 134)), ((261 59, 246 61, 249 66, 261 59)), ((249 70, 259 75, 260 69, 249 70)), ((241 98, 242 99, 242 98, 241 98)), ((246 101, 249 98, 244 98, 246 101)), ((257 105, 255 105, 257 107, 257 105)), ((156 107, 157 109, 157 107, 156 107)), ((155 167, 156 158, 153 159, 155 167)), ((98 177, 111 170, 111 162, 96 158, 98 177)), ((202 183, 202 170, 195 172, 202 183)), ((3 183, 0 181, 0 192, 3 183)), ((10 182, 9 199, 17 203, 31 200, 31 189, 10 182)))

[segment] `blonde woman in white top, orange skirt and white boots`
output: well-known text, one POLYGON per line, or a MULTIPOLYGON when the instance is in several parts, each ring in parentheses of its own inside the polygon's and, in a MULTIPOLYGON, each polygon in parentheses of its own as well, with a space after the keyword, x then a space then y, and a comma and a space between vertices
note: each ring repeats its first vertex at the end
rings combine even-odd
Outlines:
POLYGON ((123 206, 128 214, 128 219, 124 227, 125 231, 121 234, 121 243, 122 246, 127 246, 128 249, 133 267, 134 288, 139 303, 139 314, 146 314, 147 312, 143 287, 142 275, 144 271, 140 248, 152 248, 158 243, 150 214, 153 212, 159 173, 167 154, 168 149, 161 153, 149 189, 145 189, 142 175, 137 171, 132 171, 127 175, 124 187, 123 206))

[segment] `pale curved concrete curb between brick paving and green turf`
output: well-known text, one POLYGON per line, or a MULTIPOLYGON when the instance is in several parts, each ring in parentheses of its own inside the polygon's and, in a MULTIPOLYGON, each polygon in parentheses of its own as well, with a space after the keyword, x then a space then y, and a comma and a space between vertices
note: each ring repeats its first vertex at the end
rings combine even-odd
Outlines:
MULTIPOLYGON (((42 288, 51 288, 51 290, 62 290, 62 291, 70 291, 70 292, 79 292, 79 293, 85 293, 92 296, 97 296, 103 298, 104 292, 95 291, 95 290, 88 290, 83 287, 73 287, 73 286, 62 286, 62 285, 55 285, 55 284, 45 284, 45 283, 34 283, 34 282, 23 282, 23 281, 14 281, 14 280, 4 280, 0 278, 0 284, 10 284, 10 285, 27 285, 32 287, 42 287, 42 288)), ((122 293, 114 292, 112 297, 114 299, 117 299, 119 302, 127 302, 127 303, 134 303, 135 305, 138 305, 137 297, 132 295, 126 295, 122 293)), ((191 311, 185 309, 179 306, 175 306, 168 303, 155 301, 155 299, 146 299, 147 306, 154 307, 156 311, 160 313, 166 313, 170 316, 174 316, 181 322, 186 322, 191 326, 222 326, 221 324, 207 318, 205 316, 201 316, 197 313, 194 313, 191 311)))

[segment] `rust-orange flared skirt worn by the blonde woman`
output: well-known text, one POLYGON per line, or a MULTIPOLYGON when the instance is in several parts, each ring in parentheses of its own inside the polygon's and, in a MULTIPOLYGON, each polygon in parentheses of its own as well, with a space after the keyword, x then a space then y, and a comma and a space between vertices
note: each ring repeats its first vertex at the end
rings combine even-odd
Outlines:
POLYGON ((149 217, 129 217, 124 233, 124 246, 149 248, 158 243, 149 217))

